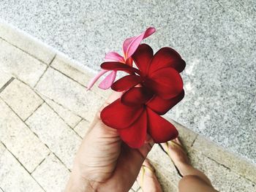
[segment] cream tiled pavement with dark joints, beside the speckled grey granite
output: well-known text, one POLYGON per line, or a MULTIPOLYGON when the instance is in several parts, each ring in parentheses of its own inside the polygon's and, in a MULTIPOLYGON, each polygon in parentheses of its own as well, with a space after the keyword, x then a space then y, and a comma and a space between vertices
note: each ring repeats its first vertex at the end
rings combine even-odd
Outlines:
MULTIPOLYGON (((86 128, 110 93, 86 92, 93 75, 17 31, 0 37, 0 191, 63 191, 86 128)), ((256 191, 255 165, 175 124, 192 164, 219 191, 256 191)), ((177 191, 167 155, 155 145, 148 157, 164 191, 177 191)), ((140 191, 138 183, 131 191, 140 191)))

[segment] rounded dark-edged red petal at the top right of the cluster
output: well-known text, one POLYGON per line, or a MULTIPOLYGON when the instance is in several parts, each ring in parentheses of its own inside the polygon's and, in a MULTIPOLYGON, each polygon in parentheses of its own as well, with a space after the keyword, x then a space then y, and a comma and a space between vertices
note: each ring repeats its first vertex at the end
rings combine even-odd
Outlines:
POLYGON ((182 72, 186 66, 186 63, 181 58, 181 55, 176 52, 176 50, 173 50, 170 47, 163 47, 154 55, 151 61, 149 73, 155 72, 167 66, 173 67, 177 72, 182 72))

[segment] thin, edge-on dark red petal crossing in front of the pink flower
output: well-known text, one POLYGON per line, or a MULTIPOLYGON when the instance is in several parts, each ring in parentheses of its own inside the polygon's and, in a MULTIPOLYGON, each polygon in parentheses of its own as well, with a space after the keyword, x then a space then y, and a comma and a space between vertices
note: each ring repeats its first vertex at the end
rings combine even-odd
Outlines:
POLYGON ((138 74, 140 74, 140 71, 138 69, 135 69, 132 66, 128 66, 127 64, 122 64, 119 62, 104 62, 100 66, 102 69, 106 70, 124 71, 128 73, 137 72, 138 74))

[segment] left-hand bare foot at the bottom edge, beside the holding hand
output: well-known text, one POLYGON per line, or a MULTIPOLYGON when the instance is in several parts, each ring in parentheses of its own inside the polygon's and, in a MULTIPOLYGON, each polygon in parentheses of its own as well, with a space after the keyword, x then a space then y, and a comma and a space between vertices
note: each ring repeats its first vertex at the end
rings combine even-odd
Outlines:
POLYGON ((137 177, 138 184, 142 191, 145 192, 162 192, 156 175, 154 174, 154 167, 150 164, 148 159, 143 162, 140 173, 137 177))

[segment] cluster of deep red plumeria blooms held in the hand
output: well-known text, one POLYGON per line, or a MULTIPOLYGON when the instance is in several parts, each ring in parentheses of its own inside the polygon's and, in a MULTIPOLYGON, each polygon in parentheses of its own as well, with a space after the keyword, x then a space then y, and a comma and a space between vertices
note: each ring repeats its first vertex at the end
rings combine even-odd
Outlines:
POLYGON ((103 123, 118 129, 121 139, 130 147, 141 147, 147 133, 157 143, 176 138, 176 128, 160 115, 184 97, 179 74, 185 67, 184 60, 170 47, 153 55, 146 44, 138 47, 132 59, 138 69, 118 62, 101 65, 102 69, 129 73, 111 86, 114 91, 126 92, 102 110, 103 123))

